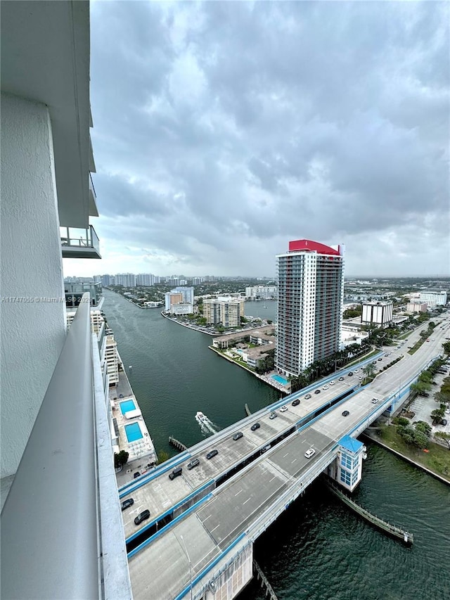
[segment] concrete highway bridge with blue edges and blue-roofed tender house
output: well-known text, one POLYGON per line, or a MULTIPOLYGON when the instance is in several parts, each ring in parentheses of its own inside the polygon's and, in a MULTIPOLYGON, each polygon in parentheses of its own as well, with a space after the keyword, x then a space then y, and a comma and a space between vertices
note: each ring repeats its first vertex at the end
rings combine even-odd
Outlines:
POLYGON ((347 489, 356 485, 364 447, 355 442, 352 448, 349 440, 404 401, 420 371, 441 354, 449 336, 448 321, 443 325, 415 354, 407 350, 420 330, 404 345, 380 349, 376 357, 354 366, 352 376, 350 369, 339 371, 121 487, 122 500, 134 499, 122 513, 134 598, 234 598, 252 577, 253 542, 317 476, 328 470, 336 477, 337 459, 353 456, 354 480, 347 481, 347 489), (358 377, 369 360, 380 369, 398 356, 403 358, 397 364, 361 386, 358 377), (297 399, 300 404, 293 406, 297 399), (281 411, 283 406, 287 409, 281 411), (259 428, 252 430, 255 423, 259 428), (238 431, 243 436, 233 440, 238 431), (308 459, 304 454, 309 448, 315 452, 308 459), (218 454, 207 460, 211 449, 218 454), (195 458, 199 464, 189 470, 187 464, 195 458), (181 476, 169 479, 178 466, 181 476), (150 518, 135 525, 134 518, 144 509, 150 518))

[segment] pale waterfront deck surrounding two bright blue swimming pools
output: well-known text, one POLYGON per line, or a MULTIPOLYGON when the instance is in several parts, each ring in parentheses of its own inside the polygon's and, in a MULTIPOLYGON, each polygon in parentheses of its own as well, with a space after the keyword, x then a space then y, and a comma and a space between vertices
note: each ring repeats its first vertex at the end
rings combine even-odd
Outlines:
POLYGON ((117 478, 117 484, 123 485, 124 479, 132 479, 133 474, 137 470, 143 473, 143 471, 149 468, 149 465, 155 464, 157 456, 150 433, 148 433, 148 428, 143 420, 141 410, 139 409, 139 403, 136 400, 127 374, 124 371, 119 371, 119 381, 115 388, 110 388, 109 396, 111 406, 113 407, 113 419, 116 420, 117 430, 119 432, 119 449, 129 453, 127 464, 124 466, 121 473, 117 473, 117 475, 121 475, 120 478, 117 478), (123 395, 123 398, 120 397, 121 394, 123 395), (125 400, 133 400, 134 406, 136 407, 136 410, 132 411, 133 417, 131 419, 127 419, 127 414, 130 416, 129 413, 122 414, 122 411, 120 410, 120 402, 124 402, 125 400), (131 425, 131 423, 139 423, 139 427, 143 434, 142 438, 134 442, 128 441, 127 433, 125 433, 124 429, 125 425, 131 425))

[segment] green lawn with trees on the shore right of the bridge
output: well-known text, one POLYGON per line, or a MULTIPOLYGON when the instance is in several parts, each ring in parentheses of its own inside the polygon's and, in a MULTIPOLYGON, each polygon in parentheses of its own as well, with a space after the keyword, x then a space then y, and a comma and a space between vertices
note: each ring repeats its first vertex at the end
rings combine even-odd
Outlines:
POLYGON ((415 446, 410 446, 397 434, 395 426, 387 425, 380 430, 380 438, 392 448, 401 452, 409 459, 429 468, 430 471, 441 475, 450 481, 450 450, 438 444, 430 443, 429 452, 423 452, 415 446))

